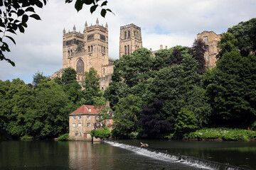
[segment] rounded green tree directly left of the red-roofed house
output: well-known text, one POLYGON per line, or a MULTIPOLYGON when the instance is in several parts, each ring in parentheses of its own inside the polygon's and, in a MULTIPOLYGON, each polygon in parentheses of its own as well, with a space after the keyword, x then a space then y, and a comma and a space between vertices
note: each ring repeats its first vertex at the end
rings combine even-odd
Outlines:
POLYGON ((44 138, 67 133, 72 104, 61 86, 54 81, 42 81, 35 93, 33 108, 26 116, 31 125, 28 135, 44 138))

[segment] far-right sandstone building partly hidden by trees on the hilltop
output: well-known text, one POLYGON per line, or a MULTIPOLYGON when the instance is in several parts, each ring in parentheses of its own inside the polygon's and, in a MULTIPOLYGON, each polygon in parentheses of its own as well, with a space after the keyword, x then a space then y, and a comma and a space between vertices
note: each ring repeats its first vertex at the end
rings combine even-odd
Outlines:
POLYGON ((217 35, 213 31, 203 31, 203 33, 198 33, 197 39, 202 39, 206 42, 206 52, 204 54, 206 60, 206 67, 212 69, 216 66, 216 55, 218 55, 217 43, 220 40, 221 35, 217 35))

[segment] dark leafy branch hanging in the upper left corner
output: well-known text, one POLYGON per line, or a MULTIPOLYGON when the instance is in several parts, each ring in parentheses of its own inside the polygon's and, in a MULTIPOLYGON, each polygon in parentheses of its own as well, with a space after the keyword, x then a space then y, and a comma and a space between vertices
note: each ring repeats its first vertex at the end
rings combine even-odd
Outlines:
POLYGON ((43 8, 43 4, 46 5, 46 0, 0 1, 0 60, 6 60, 6 62, 9 62, 12 66, 15 66, 13 61, 4 56, 4 52, 11 51, 6 42, 6 38, 16 44, 14 38, 12 38, 9 34, 16 34, 17 30, 24 33, 25 28, 28 27, 28 18, 41 20, 40 16, 36 14, 34 6, 43 8))

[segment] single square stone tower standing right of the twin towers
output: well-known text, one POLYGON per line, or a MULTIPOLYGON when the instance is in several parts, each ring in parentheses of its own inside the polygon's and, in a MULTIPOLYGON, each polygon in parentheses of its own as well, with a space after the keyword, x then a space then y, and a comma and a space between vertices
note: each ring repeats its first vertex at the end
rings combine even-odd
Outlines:
POLYGON ((132 52, 142 47, 141 28, 133 23, 120 27, 119 57, 131 55, 132 52))

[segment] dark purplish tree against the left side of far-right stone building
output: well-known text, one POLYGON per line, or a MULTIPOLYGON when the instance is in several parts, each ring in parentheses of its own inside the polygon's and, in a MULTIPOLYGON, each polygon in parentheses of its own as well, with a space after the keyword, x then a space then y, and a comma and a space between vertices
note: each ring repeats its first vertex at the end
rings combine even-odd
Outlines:
POLYGON ((206 43, 202 39, 194 40, 193 46, 193 57, 198 62, 198 74, 203 74, 206 72, 206 60, 204 58, 204 53, 206 52, 206 43))

